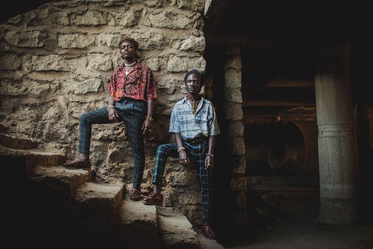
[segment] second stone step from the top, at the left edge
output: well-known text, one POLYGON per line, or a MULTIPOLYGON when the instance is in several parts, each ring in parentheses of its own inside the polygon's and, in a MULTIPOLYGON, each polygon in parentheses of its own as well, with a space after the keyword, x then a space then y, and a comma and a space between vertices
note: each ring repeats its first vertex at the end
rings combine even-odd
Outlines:
POLYGON ((45 152, 38 149, 18 150, 0 145, 2 162, 8 168, 21 167, 26 175, 31 175, 34 166, 58 166, 65 163, 65 156, 61 153, 45 152), (12 164, 16 161, 16 164, 12 164))

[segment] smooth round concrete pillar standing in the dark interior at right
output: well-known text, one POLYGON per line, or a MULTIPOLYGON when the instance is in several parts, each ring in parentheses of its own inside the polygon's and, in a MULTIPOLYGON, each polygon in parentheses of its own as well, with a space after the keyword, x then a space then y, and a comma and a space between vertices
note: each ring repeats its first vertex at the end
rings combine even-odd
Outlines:
POLYGON ((353 224, 358 219, 349 56, 349 42, 315 51, 320 223, 353 224))

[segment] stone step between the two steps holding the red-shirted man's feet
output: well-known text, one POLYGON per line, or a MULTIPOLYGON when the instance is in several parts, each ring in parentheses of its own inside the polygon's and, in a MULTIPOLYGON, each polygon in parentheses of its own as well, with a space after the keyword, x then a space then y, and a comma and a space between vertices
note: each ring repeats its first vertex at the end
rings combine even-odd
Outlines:
MULTIPOLYGON (((77 238, 77 244, 118 245, 118 211, 123 204, 122 183, 86 182, 78 188, 75 200, 67 210, 67 221, 79 233, 86 234, 77 238), (90 240, 87 242, 87 239, 90 240)), ((120 236, 120 235, 119 235, 120 236)), ((98 246, 98 245, 95 245, 98 246)))

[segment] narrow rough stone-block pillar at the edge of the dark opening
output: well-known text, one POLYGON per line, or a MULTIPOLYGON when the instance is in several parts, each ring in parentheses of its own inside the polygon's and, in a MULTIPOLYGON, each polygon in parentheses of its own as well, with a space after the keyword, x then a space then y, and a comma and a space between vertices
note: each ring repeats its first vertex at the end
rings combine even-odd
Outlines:
POLYGON ((227 151, 231 162, 231 190, 236 196, 234 219, 236 224, 245 229, 247 226, 246 163, 241 74, 240 48, 228 48, 227 61, 224 66, 225 118, 228 122, 227 151))

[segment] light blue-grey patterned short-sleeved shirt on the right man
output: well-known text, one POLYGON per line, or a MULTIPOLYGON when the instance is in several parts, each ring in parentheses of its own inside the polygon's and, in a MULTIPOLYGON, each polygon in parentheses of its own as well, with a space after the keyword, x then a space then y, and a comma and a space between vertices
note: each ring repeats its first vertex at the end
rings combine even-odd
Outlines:
POLYGON ((192 114, 187 96, 179 100, 171 112, 170 132, 180 133, 185 141, 219 134, 215 109, 211 102, 201 97, 195 114, 192 114))

